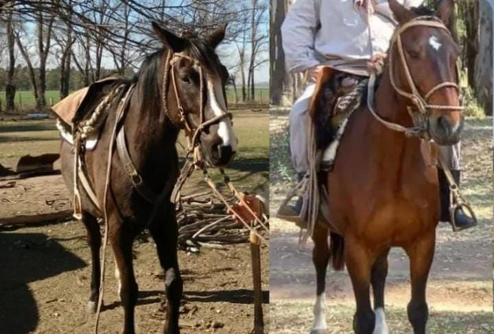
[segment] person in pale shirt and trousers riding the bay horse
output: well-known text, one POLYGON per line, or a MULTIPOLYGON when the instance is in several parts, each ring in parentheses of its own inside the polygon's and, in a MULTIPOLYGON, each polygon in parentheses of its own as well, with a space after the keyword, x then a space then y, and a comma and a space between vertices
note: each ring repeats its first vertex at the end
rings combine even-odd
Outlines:
MULTIPOLYGON (((398 0, 405 7, 418 7, 423 0, 398 0)), ((343 72, 349 77, 367 77, 369 67, 382 59, 389 47, 396 27, 387 0, 322 1, 297 0, 290 8, 281 27, 283 50, 287 70, 304 72, 307 86, 290 111, 290 149, 292 162, 301 180, 308 169, 307 160, 307 109, 316 80, 324 67, 343 72), (367 6, 370 6, 368 8, 367 6), (367 21, 371 11, 371 36, 367 21), (371 37, 371 38, 369 38, 371 37), (372 42, 370 41, 372 40, 372 42), (371 54, 375 58, 371 60, 371 54)), ((460 182, 460 144, 439 146, 439 154, 449 164, 451 173, 460 182)), ((324 160, 324 158, 323 158, 324 160)), ((324 163, 324 161, 322 161, 324 163)), ((449 184, 444 171, 438 168, 442 222, 450 222, 449 184)), ((301 215, 303 198, 294 206, 283 208, 284 216, 301 215)), ((475 219, 458 208, 454 214, 455 230, 475 226, 475 219)))

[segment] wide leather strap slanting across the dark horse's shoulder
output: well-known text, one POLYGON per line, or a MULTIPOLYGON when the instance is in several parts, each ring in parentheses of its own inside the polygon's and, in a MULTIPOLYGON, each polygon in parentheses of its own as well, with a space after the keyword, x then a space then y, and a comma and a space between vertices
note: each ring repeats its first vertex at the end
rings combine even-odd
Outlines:
POLYGON ((127 171, 128 176, 130 177, 130 181, 132 182, 132 186, 137 190, 139 195, 141 195, 145 200, 154 204, 156 202, 156 193, 148 187, 134 163, 132 162, 132 158, 130 158, 130 154, 128 152, 128 147, 126 143, 126 135, 125 135, 125 127, 121 126, 119 133, 117 135, 117 152, 119 158, 121 160, 122 165, 124 165, 124 169, 127 171))

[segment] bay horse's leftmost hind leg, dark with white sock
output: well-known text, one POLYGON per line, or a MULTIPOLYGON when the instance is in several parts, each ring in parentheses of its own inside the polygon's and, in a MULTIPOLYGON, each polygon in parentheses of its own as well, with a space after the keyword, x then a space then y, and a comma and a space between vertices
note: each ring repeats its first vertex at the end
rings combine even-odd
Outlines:
POLYGON ((314 323, 311 334, 327 333, 326 324, 326 270, 329 262, 329 247, 327 242, 328 230, 319 224, 314 226, 314 250, 312 250, 312 261, 316 267, 317 297, 314 304, 314 323))

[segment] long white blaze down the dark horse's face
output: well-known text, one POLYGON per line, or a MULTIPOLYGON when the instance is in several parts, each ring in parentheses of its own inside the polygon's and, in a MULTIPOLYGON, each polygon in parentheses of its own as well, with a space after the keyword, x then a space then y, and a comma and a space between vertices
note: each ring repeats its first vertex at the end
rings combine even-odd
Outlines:
MULTIPOLYGON (((223 89, 220 79, 217 77, 206 76, 208 99, 207 103, 215 117, 226 114, 226 102, 223 96, 223 89)), ((231 146, 233 152, 237 152, 237 137, 233 133, 231 121, 225 117, 218 123, 218 136, 223 140, 224 146, 231 146)))

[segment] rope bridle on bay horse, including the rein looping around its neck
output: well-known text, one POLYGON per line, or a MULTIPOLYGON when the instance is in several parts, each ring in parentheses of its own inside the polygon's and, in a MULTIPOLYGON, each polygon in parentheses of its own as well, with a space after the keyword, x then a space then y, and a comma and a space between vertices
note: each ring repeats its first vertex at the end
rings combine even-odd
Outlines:
MULTIPOLYGON (((397 123, 386 121, 382 119, 379 115, 377 115, 377 112, 375 112, 372 106, 373 87, 375 86, 375 80, 376 80, 375 73, 371 75, 371 78, 369 80, 368 107, 371 110, 371 113, 374 115, 374 117, 376 117, 378 121, 383 123, 384 126, 392 130, 405 132, 405 134, 407 134, 408 136, 419 136, 423 139, 430 139, 430 134, 428 133, 428 117, 430 115, 430 110, 436 109, 436 110, 462 111, 465 108, 464 106, 461 105, 446 106, 446 105, 429 104, 429 100, 432 97, 432 95, 440 91, 440 89, 447 87, 455 88, 456 91, 458 91, 458 95, 460 96, 460 102, 461 102, 462 101, 461 88, 456 82, 440 82, 439 84, 436 84, 436 86, 431 88, 430 91, 425 93, 425 95, 421 95, 419 89, 416 87, 412 77, 412 73, 410 73, 410 67, 408 66, 408 62, 406 61, 405 58, 405 51, 403 49, 403 44, 401 43, 401 34, 403 34, 405 30, 417 26, 426 26, 426 27, 435 27, 438 29, 444 29, 448 32, 448 34, 451 34, 449 32, 449 29, 447 29, 443 21, 440 21, 440 19, 434 16, 418 16, 401 25, 398 29, 395 30, 395 33, 392 36, 391 44, 390 44, 390 52, 389 52, 389 64, 388 64, 390 82, 393 89, 395 89, 396 93, 409 99, 410 102, 412 103, 412 105, 407 106, 407 108, 410 116, 412 117, 414 127, 405 128, 404 126, 401 126, 397 123), (395 73, 393 72, 393 64, 395 63, 395 58, 392 52, 392 48, 395 45, 397 46, 399 52, 399 59, 401 60, 401 65, 403 67, 403 71, 405 73, 408 86, 410 86, 411 92, 404 91, 402 88, 398 86, 396 82, 395 73)), ((456 71, 458 73, 457 78, 459 80, 460 73, 459 73, 458 64, 456 64, 456 71)))

